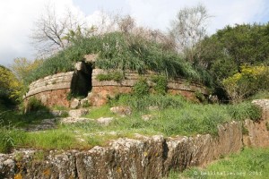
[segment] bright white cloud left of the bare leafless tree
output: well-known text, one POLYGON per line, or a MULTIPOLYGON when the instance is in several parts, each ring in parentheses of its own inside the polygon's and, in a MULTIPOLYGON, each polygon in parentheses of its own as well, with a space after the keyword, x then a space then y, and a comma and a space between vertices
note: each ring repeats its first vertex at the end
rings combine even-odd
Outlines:
MULTIPOLYGON (((30 33, 33 22, 43 12, 44 4, 49 0, 8 0, 0 2, 0 64, 11 64, 15 57, 33 58, 33 48, 30 45, 30 33)), ((72 12, 82 13, 74 6, 72 0, 56 0, 59 13, 65 13, 66 7, 72 12)))

